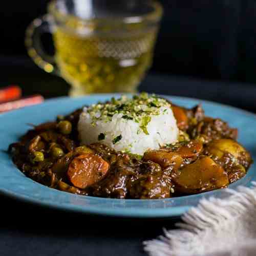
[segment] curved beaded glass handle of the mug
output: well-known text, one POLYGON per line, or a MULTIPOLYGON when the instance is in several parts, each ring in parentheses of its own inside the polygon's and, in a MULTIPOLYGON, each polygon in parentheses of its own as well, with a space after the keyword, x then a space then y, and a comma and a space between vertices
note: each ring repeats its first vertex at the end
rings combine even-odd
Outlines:
POLYGON ((58 75, 54 56, 47 54, 41 43, 41 35, 52 32, 51 24, 52 17, 49 14, 34 19, 26 30, 25 45, 29 56, 37 66, 48 73, 58 75))

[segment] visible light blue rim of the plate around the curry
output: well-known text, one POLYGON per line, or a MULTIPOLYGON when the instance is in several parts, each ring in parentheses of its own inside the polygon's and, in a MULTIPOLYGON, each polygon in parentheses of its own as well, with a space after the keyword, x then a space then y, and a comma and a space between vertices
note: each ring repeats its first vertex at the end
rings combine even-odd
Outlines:
MULTIPOLYGON (((82 98, 57 98, 45 103, 30 106, 0 115, 0 192, 16 198, 43 206, 63 210, 118 217, 162 218, 176 217, 183 214, 191 206, 198 204, 202 198, 216 196, 223 198, 224 189, 206 192, 199 195, 158 200, 106 199, 69 194, 41 185, 20 172, 7 154, 10 143, 29 129, 28 123, 39 124, 54 120, 57 115, 65 115, 84 104, 105 101, 115 94, 98 94, 82 98)), ((178 105, 188 108, 202 103, 206 115, 226 120, 230 126, 238 127, 239 141, 256 159, 256 115, 230 106, 203 100, 164 96, 178 105)), ((252 165, 247 175, 229 187, 236 189, 238 185, 249 186, 256 181, 256 166, 252 165)))

